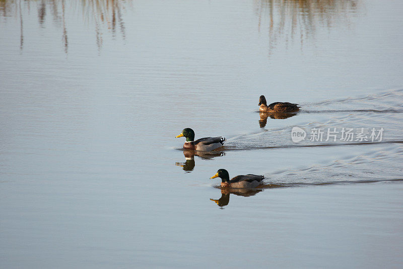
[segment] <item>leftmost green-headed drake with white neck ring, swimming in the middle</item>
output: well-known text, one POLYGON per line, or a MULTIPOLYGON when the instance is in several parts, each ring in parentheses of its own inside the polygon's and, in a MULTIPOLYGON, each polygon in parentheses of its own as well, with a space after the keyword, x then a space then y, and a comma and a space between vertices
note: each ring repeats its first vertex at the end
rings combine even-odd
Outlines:
POLYGON ((176 136, 186 137, 186 142, 183 145, 184 149, 200 150, 200 151, 212 151, 224 145, 225 138, 218 137, 204 137, 194 141, 194 131, 190 128, 185 128, 182 133, 176 136))

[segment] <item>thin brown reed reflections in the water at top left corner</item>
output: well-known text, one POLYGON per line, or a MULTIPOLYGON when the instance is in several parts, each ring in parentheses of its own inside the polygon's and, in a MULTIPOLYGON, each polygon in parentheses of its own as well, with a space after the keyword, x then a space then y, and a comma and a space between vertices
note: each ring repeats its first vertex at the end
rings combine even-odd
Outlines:
MULTIPOLYGON (((16 17, 20 20, 20 49, 24 45, 24 16, 29 16, 31 10, 37 11, 38 24, 41 28, 46 27, 46 20, 61 28, 61 40, 64 51, 68 53, 68 21, 66 13, 81 11, 85 22, 94 25, 95 41, 98 50, 102 48, 103 32, 110 31, 113 37, 119 31, 122 39, 126 37, 123 21, 123 11, 131 1, 123 0, 82 0, 66 2, 65 0, 41 0, 41 1, 12 1, 0 0, 0 17, 16 17)), ((69 14, 71 16, 71 14, 69 14)), ((73 16, 71 16, 73 17, 73 16)))

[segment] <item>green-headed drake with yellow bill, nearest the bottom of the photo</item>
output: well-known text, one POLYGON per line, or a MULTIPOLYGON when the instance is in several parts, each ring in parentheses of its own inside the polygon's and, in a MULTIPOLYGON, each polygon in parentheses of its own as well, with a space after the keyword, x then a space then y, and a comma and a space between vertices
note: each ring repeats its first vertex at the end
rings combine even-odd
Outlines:
POLYGON ((263 184, 262 180, 264 176, 256 176, 256 175, 241 175, 236 176, 230 180, 230 176, 228 171, 225 169, 219 169, 217 173, 212 176, 213 178, 221 178, 221 187, 229 187, 229 188, 255 188, 261 184, 263 184))

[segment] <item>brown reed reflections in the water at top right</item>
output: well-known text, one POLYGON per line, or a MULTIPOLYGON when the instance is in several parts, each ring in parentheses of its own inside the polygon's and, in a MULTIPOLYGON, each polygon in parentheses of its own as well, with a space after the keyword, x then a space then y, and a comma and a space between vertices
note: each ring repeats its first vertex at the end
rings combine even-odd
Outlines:
POLYGON ((255 2, 259 32, 267 31, 269 53, 283 40, 299 40, 301 48, 319 27, 349 25, 359 0, 260 0, 255 2))

